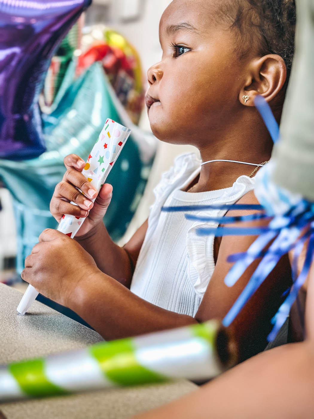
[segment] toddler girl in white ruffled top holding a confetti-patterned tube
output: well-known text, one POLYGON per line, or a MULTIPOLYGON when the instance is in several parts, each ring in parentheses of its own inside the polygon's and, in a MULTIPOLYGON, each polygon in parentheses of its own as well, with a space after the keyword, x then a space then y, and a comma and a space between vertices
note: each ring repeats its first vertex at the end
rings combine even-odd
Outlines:
MULTIPOLYGON (((120 248, 103 224, 112 187, 105 184, 93 204, 89 198, 96 192, 80 173, 85 162, 67 156, 51 213, 58 221, 63 214, 87 218, 75 240, 44 230, 26 258, 23 279, 74 310, 105 339, 222 319, 258 263, 228 288, 226 258, 246 251, 255 237, 198 236, 199 227, 215 224, 161 208, 258 203, 254 174, 269 160, 272 140, 254 98, 263 96, 279 121, 294 19, 292 0, 174 0, 160 21, 162 59, 148 70, 148 116, 157 138, 195 145, 201 160, 193 154, 175 160, 154 191, 148 220, 120 248)), ((241 359, 265 347, 289 272, 288 260, 281 260, 233 322, 241 359)))

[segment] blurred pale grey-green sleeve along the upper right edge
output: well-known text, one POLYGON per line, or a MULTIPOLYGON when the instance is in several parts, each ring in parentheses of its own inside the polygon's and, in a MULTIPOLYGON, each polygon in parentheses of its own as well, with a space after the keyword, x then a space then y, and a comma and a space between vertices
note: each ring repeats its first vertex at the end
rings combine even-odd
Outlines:
POLYGON ((314 201, 314 0, 297 0, 296 52, 272 157, 278 186, 314 201))

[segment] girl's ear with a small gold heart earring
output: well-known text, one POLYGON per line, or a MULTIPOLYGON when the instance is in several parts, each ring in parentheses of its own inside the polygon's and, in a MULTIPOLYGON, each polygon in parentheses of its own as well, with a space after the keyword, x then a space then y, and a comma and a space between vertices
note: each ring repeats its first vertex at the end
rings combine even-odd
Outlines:
POLYGON ((286 75, 286 64, 280 55, 268 54, 252 60, 245 86, 239 94, 239 101, 246 106, 255 106, 254 98, 260 95, 270 102, 283 88, 286 75))

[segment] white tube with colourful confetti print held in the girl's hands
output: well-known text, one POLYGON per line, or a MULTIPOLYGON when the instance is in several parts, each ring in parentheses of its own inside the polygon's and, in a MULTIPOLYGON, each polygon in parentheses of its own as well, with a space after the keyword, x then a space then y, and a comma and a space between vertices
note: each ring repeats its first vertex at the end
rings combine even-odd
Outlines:
MULTIPOLYGON (((90 152, 87 163, 82 170, 82 174, 88 179, 90 184, 94 186, 98 193, 101 186, 105 183, 106 178, 116 162, 118 155, 120 154, 130 133, 131 130, 129 128, 118 124, 112 119, 107 119, 105 126, 100 132, 98 140, 96 141, 93 150, 90 152)), ((93 202, 95 199, 93 199, 93 202)), ((71 202, 71 204, 75 203, 71 202)), ((73 238, 84 220, 86 220, 86 218, 75 217, 73 215, 63 215, 59 223, 58 230, 73 238)), ((28 285, 20 304, 18 305, 18 314, 24 315, 37 295, 38 292, 35 288, 28 285)))

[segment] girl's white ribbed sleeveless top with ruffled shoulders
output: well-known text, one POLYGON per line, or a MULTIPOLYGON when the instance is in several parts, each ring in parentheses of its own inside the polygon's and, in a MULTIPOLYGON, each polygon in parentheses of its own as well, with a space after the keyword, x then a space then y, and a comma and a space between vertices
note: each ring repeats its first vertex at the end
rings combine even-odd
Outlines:
MULTIPOLYGON (((186 220, 186 212, 163 212, 163 206, 233 204, 254 189, 254 178, 240 176, 230 188, 185 192, 200 173, 201 160, 180 155, 154 189, 147 233, 139 253, 131 291, 166 310, 195 316, 214 272, 214 235, 197 235, 215 222, 186 220)), ((200 216, 223 216, 226 210, 189 211, 200 216)))

